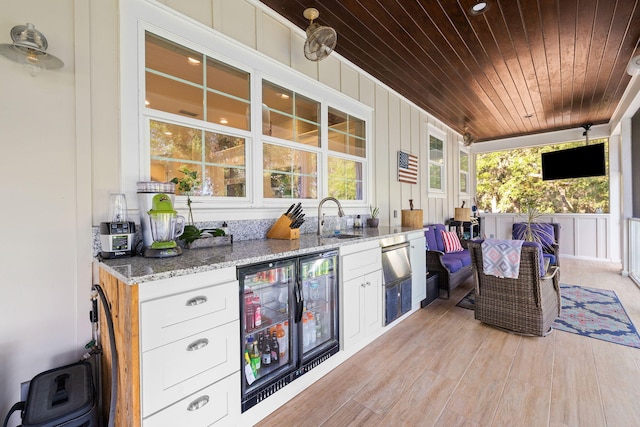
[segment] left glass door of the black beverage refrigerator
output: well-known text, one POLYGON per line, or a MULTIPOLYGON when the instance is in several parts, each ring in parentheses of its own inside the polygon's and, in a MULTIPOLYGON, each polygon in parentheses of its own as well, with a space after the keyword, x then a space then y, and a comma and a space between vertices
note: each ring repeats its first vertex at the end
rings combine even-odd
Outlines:
POLYGON ((295 366, 291 298, 295 262, 239 270, 242 305, 243 391, 258 389, 295 366))

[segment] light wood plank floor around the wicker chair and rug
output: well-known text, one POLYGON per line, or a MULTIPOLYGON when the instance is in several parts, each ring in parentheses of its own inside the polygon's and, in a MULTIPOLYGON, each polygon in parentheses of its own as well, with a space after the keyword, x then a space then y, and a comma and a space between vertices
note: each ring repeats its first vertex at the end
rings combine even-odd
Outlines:
MULTIPOLYGON (((612 289, 640 326, 620 265, 562 259, 560 282, 612 289)), ((640 350, 561 331, 505 333, 450 300, 418 310, 260 426, 640 426, 640 350)))

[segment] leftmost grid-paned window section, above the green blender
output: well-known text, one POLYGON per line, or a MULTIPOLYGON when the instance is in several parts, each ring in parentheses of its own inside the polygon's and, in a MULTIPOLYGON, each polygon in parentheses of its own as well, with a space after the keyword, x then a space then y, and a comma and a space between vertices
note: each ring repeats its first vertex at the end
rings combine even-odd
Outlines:
POLYGON ((250 130, 250 74, 146 33, 145 115, 151 179, 201 181, 195 195, 246 197, 245 136, 250 130))

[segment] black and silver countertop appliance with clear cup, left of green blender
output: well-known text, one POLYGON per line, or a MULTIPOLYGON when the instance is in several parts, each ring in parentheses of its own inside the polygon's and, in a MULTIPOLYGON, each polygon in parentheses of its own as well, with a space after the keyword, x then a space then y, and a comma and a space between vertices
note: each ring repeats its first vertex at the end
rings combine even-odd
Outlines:
POLYGON ((127 200, 122 193, 112 193, 109 205, 109 222, 100 223, 102 258, 122 258, 133 255, 133 238, 136 225, 127 221, 127 200))

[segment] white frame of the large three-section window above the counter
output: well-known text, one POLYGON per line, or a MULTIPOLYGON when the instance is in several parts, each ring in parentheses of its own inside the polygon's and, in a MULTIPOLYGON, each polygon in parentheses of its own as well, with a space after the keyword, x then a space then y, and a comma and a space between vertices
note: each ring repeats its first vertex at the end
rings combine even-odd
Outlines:
MULTIPOLYGON (((140 6, 140 5, 139 5, 140 6)), ((174 122, 178 125, 195 125, 197 129, 205 127, 205 130, 239 136, 245 139, 246 149, 246 197, 241 201, 238 198, 196 196, 192 197, 197 203, 198 211, 194 211, 196 221, 211 221, 228 219, 232 212, 238 219, 264 218, 268 212, 279 212, 281 208, 288 207, 293 201, 317 206, 319 201, 327 194, 326 159, 328 156, 327 135, 327 106, 331 105, 353 117, 364 120, 366 124, 366 157, 357 160, 364 164, 363 167, 363 199, 360 201, 346 200, 343 206, 357 206, 365 208, 372 200, 371 168, 368 162, 372 161, 373 138, 371 126, 373 122, 373 108, 362 104, 356 99, 350 98, 336 90, 327 88, 319 81, 311 79, 290 67, 280 64, 274 59, 257 54, 253 49, 241 43, 225 38, 215 30, 207 27, 194 26, 192 22, 180 19, 166 10, 151 8, 149 6, 132 7, 125 5, 121 20, 121 173, 120 179, 125 193, 134 201, 137 199, 136 182, 149 179, 149 132, 148 116, 174 122), (144 10, 143 10, 144 9, 144 10), (143 10, 141 12, 141 10, 143 10), (161 22, 162 28, 154 25, 161 22), (224 64, 246 71, 250 74, 251 93, 251 129, 243 131, 229 128, 224 125, 209 123, 203 126, 200 120, 189 117, 173 117, 164 112, 154 111, 153 114, 144 114, 144 82, 145 82, 145 32, 151 32, 171 42, 180 44, 188 49, 196 50, 208 57, 224 64), (128 40, 129 42, 125 42, 128 40), (130 43, 136 40, 137 43, 130 43), (276 77, 277 76, 277 77, 276 77), (305 97, 320 102, 321 105, 321 147, 318 150, 318 188, 317 199, 265 199, 262 196, 262 170, 263 139, 269 142, 271 137, 262 135, 261 105, 262 105, 262 79, 283 88, 295 91, 305 97), (304 88, 304 89, 302 89, 304 88), (125 154, 126 153, 126 154, 125 154), (199 200, 202 199, 202 200, 199 200), (257 208, 257 209, 244 209, 257 208), (277 209, 277 211, 276 211, 277 209)), ((278 144, 289 145, 283 140, 274 138, 278 144)), ((295 143, 294 149, 307 150, 308 146, 295 143)), ((315 151, 315 150, 311 150, 315 151)), ((132 203, 137 207, 137 203, 132 203)), ((186 208, 186 196, 176 196, 176 207, 186 208)), ((271 216, 271 214, 266 215, 271 216)))

